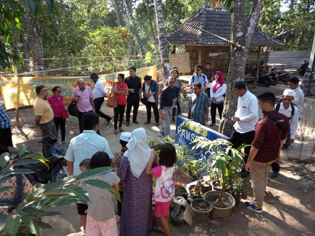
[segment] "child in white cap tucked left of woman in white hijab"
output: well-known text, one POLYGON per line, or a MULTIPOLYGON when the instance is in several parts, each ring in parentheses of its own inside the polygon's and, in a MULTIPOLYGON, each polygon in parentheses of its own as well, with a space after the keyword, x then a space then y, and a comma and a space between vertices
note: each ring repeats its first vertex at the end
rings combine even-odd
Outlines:
MULTIPOLYGON (((114 158, 113 158, 114 163, 115 163, 115 173, 118 173, 120 162, 123 159, 123 155, 124 155, 125 151, 128 150, 126 145, 129 142, 130 136, 131 136, 130 132, 122 132, 120 134, 119 143, 121 144, 121 150, 117 150, 115 152, 114 158)), ((119 193, 120 193, 121 201, 123 201, 123 186, 124 186, 124 182, 120 181, 120 183, 119 183, 119 193)), ((118 214, 118 216, 121 216, 121 210, 122 210, 122 203, 120 201, 117 201, 117 211, 118 211, 117 214, 118 214)))

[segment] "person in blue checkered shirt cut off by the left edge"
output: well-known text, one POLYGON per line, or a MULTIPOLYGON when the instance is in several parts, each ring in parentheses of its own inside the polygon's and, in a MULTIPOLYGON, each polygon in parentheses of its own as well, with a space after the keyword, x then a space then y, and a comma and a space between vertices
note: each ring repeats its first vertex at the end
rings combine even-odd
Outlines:
POLYGON ((9 116, 0 106, 0 145, 13 146, 11 126, 9 116))

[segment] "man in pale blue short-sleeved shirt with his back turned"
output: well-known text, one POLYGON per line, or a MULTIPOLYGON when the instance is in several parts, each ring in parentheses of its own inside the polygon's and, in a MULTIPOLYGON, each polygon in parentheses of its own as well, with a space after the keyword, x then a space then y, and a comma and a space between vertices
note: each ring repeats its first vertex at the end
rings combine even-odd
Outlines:
MULTIPOLYGON (((109 148, 106 138, 98 135, 96 132, 99 129, 99 116, 96 113, 85 113, 83 115, 83 133, 71 139, 68 150, 65 155, 67 160, 68 171, 71 175, 81 174, 80 163, 84 159, 91 158, 96 152, 106 152, 111 159, 113 167, 113 154, 109 148)), ((77 211, 80 215, 83 229, 86 225, 86 213, 88 207, 86 204, 77 204, 77 211)))

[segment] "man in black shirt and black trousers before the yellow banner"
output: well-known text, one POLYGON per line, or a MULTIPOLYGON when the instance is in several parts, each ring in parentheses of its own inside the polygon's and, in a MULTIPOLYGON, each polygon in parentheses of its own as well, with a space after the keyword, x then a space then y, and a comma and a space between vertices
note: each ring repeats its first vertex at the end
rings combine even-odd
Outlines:
POLYGON ((130 67, 129 74, 130 76, 128 76, 124 81, 129 90, 129 95, 127 96, 126 126, 130 125, 130 112, 132 106, 134 107, 132 122, 139 124, 137 121, 137 115, 142 94, 141 78, 136 76, 136 68, 130 67))

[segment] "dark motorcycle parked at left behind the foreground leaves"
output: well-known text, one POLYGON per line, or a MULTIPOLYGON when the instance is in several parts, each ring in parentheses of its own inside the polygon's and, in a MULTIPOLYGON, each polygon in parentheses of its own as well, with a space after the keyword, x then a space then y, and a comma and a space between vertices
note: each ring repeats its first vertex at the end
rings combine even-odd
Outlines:
MULTIPOLYGON (((39 142, 43 143, 46 147, 47 154, 45 158, 49 160, 46 162, 49 168, 42 162, 19 166, 20 168, 31 169, 35 172, 25 175, 31 183, 54 183, 70 176, 67 169, 67 162, 64 159, 64 156, 66 155, 65 150, 57 143, 57 141, 58 139, 52 133, 49 133, 49 135, 43 137, 42 141, 39 142)), ((10 155, 18 154, 17 149, 14 147, 1 146, 0 149, 0 153, 8 152, 10 155)), ((31 151, 27 150, 23 156, 31 153, 31 151)), ((18 157, 19 155, 16 156, 16 158, 18 157)))

